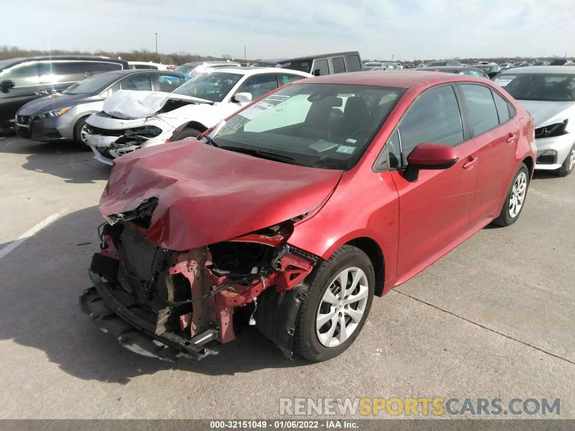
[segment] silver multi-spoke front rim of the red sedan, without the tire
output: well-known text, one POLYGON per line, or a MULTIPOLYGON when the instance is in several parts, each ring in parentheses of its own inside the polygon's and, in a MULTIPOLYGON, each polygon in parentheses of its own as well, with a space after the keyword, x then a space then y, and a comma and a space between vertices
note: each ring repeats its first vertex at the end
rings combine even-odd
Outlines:
POLYGON ((356 267, 346 268, 329 283, 316 315, 316 334, 325 347, 342 344, 362 320, 369 295, 367 276, 356 267))

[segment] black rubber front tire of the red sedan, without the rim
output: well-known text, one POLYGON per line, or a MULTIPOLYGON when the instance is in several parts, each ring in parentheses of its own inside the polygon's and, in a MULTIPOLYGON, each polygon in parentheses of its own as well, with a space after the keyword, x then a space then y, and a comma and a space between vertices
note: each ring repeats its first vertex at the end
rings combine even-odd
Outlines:
MULTIPOLYGON (((339 286, 339 283, 336 285, 339 286)), ((328 260, 324 261, 315 272, 315 277, 309 288, 309 294, 302 303, 300 316, 296 324, 294 332, 294 343, 297 352, 309 359, 310 361, 320 362, 332 359, 346 351, 348 347, 355 341, 355 338, 361 332, 369 310, 371 309, 371 302, 373 301, 373 294, 375 290, 375 275, 371 260, 359 248, 352 245, 344 245, 333 253, 328 260), (347 338, 346 341, 337 345, 336 347, 326 347, 323 345, 316 334, 316 317, 320 306, 328 305, 323 303, 322 299, 325 291, 335 281, 336 276, 346 268, 356 267, 363 271, 367 278, 367 303, 365 310, 356 326, 354 332, 347 338)), ((337 296, 337 294, 336 294, 337 296)), ((336 311, 335 311, 336 312, 336 311)), ((326 322, 326 325, 329 322, 326 322)), ((333 323, 329 324, 334 325, 333 323)), ((337 325, 337 324, 335 324, 337 325)), ((346 323, 349 325, 349 323, 346 323)), ((336 326, 337 330, 339 326, 336 326)), ((323 328, 323 326, 322 326, 323 328)), ((321 328, 320 328, 321 329, 321 328)))

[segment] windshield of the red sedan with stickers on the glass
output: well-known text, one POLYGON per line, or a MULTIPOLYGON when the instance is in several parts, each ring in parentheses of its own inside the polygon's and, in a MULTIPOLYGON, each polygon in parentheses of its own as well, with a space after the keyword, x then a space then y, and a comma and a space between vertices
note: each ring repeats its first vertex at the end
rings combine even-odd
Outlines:
POLYGON ((326 169, 350 169, 405 88, 290 84, 229 118, 221 148, 326 169), (256 155, 256 154, 254 154, 256 155))

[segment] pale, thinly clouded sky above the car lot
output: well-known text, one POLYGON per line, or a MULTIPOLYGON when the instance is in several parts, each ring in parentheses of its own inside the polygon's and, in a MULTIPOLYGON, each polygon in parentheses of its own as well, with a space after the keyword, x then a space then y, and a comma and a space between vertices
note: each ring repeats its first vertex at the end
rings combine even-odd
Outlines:
POLYGON ((248 59, 575 56, 575 0, 20 0, 0 45, 248 59))

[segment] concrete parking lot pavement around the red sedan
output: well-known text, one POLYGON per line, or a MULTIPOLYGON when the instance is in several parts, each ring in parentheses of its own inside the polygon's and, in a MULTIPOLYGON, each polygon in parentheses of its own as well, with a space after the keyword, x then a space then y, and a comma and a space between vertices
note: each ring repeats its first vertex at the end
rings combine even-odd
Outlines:
POLYGON ((0 418, 277 418, 281 397, 561 398, 575 418, 575 175, 537 174, 515 225, 375 299, 336 359, 287 360, 248 328, 167 364, 78 307, 108 174, 72 144, 0 138, 0 249, 51 221, 0 257, 0 418))

